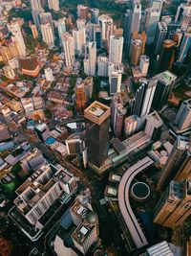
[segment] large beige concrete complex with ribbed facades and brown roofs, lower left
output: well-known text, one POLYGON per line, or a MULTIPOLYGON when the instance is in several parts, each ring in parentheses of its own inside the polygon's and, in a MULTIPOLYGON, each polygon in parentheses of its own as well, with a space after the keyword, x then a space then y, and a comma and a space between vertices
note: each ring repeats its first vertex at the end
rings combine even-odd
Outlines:
POLYGON ((64 193, 73 193, 76 186, 74 175, 67 169, 44 164, 16 190, 18 197, 14 199, 14 204, 27 221, 42 228, 40 218, 57 198, 64 193))

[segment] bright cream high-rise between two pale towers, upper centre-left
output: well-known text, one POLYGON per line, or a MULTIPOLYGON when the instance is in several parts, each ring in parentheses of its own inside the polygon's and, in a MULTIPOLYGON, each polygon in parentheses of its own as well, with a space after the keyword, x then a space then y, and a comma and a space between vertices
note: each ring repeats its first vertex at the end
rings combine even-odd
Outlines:
POLYGON ((74 51, 75 54, 80 56, 84 52, 84 47, 86 43, 86 30, 85 27, 80 29, 73 30, 73 38, 74 38, 74 51))

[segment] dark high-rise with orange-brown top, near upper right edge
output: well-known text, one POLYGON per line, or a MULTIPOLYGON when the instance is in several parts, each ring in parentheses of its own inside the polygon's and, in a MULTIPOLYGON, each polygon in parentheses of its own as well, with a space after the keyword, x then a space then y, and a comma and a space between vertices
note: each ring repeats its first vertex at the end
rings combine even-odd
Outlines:
POLYGON ((164 40, 161 54, 159 56, 158 72, 170 70, 175 56, 175 42, 173 40, 164 40))

